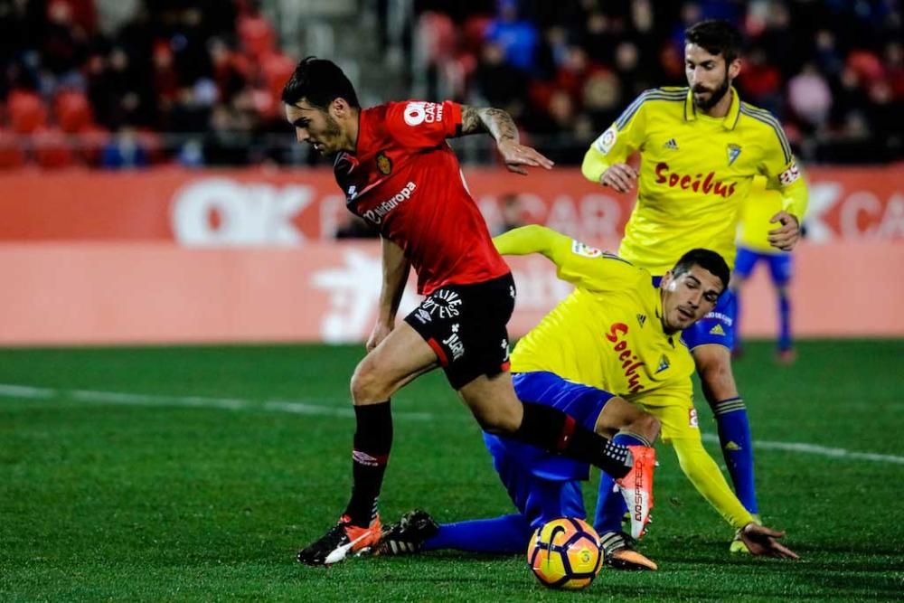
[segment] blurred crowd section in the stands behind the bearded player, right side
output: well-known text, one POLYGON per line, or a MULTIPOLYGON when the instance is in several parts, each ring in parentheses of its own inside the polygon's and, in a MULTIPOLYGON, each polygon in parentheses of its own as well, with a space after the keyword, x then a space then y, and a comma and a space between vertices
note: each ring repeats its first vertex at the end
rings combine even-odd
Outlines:
MULTIPOLYGON (((439 95, 507 108, 529 132, 587 142, 641 91, 686 85, 683 31, 738 24, 737 88, 825 163, 901 156, 904 47, 897 0, 421 0, 418 39, 439 95)), ((579 163, 586 145, 553 146, 579 163)), ((544 147, 547 148, 547 147, 544 147)))

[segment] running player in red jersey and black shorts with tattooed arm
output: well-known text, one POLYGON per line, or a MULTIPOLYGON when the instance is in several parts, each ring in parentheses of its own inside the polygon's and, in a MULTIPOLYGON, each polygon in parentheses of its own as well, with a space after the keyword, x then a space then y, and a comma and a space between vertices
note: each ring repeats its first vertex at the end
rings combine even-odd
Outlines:
POLYGON ((446 139, 489 133, 506 167, 518 174, 550 169, 552 162, 521 145, 512 118, 498 108, 417 100, 361 108, 332 61, 298 63, 282 101, 298 142, 334 156, 348 209, 380 229, 383 267, 377 324, 351 384, 352 496, 339 522, 300 551, 298 561, 326 565, 379 542, 377 498, 392 440, 389 400, 437 366, 483 429, 599 466, 634 500, 634 488, 652 479, 653 448, 613 444, 560 410, 515 396, 505 331, 514 307, 512 274, 446 139), (412 267, 425 297, 396 325, 412 267), (639 472, 650 479, 637 479, 639 472))

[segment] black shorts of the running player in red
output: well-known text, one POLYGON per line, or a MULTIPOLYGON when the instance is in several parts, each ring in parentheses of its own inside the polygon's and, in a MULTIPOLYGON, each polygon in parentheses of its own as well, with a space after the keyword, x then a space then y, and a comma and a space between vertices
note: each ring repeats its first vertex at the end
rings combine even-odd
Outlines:
POLYGON ((447 285, 425 297, 405 322, 433 348, 448 382, 460 390, 481 375, 508 370, 505 325, 512 317, 514 297, 511 274, 447 285))

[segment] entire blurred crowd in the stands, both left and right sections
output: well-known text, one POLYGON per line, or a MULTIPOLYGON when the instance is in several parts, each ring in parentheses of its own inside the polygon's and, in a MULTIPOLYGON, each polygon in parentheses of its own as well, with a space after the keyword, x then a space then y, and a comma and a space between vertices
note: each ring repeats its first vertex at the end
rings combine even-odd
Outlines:
MULTIPOLYGON (((297 161, 279 90, 299 57, 261 4, 0 0, 0 166, 297 161)), ((636 94, 684 84, 683 30, 709 17, 739 24, 738 90, 805 161, 900 158, 899 0, 412 0, 405 75, 576 164, 636 94)))

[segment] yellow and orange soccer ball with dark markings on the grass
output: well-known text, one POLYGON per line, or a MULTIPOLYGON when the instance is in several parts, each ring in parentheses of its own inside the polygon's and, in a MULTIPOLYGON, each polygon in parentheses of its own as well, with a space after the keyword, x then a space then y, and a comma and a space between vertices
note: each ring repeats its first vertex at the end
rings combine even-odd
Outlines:
POLYGON ((554 519, 533 532, 527 564, 543 586, 586 589, 603 566, 599 536, 582 519, 554 519))

